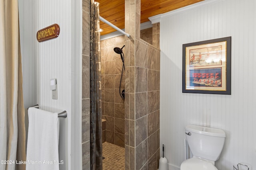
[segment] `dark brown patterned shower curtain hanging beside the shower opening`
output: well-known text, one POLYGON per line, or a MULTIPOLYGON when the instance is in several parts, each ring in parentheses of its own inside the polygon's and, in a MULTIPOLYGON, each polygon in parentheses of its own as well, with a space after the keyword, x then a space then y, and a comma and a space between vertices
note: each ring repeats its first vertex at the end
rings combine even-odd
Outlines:
POLYGON ((99 3, 90 1, 90 164, 102 170, 102 111, 99 3))

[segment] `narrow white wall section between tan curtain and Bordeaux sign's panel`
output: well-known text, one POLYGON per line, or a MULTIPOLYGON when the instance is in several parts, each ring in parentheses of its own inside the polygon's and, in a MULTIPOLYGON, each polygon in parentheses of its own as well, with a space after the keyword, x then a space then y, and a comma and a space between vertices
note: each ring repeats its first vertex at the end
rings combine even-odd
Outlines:
MULTIPOLYGON (((34 57, 33 9, 34 1, 18 0, 19 24, 20 24, 20 49, 23 73, 23 98, 24 107, 28 108, 36 104, 36 58, 34 57), (30 10, 28 10, 30 9, 30 10)), ((26 141, 28 137, 28 111, 25 109, 26 141)))

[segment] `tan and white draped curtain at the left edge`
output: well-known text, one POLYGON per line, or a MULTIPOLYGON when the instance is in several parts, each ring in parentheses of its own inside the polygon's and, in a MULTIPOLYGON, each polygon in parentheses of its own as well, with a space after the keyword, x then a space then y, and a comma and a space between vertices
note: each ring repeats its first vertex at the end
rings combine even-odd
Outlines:
POLYGON ((0 0, 0 170, 25 170, 24 114, 18 0, 0 0))

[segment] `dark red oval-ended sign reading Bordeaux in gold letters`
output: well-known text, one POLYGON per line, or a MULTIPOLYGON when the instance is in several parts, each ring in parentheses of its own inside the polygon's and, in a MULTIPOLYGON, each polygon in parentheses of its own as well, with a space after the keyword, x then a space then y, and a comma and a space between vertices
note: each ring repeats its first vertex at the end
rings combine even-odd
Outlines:
POLYGON ((36 33, 36 39, 38 42, 46 41, 49 39, 57 38, 60 34, 60 26, 56 23, 40 29, 36 33))

